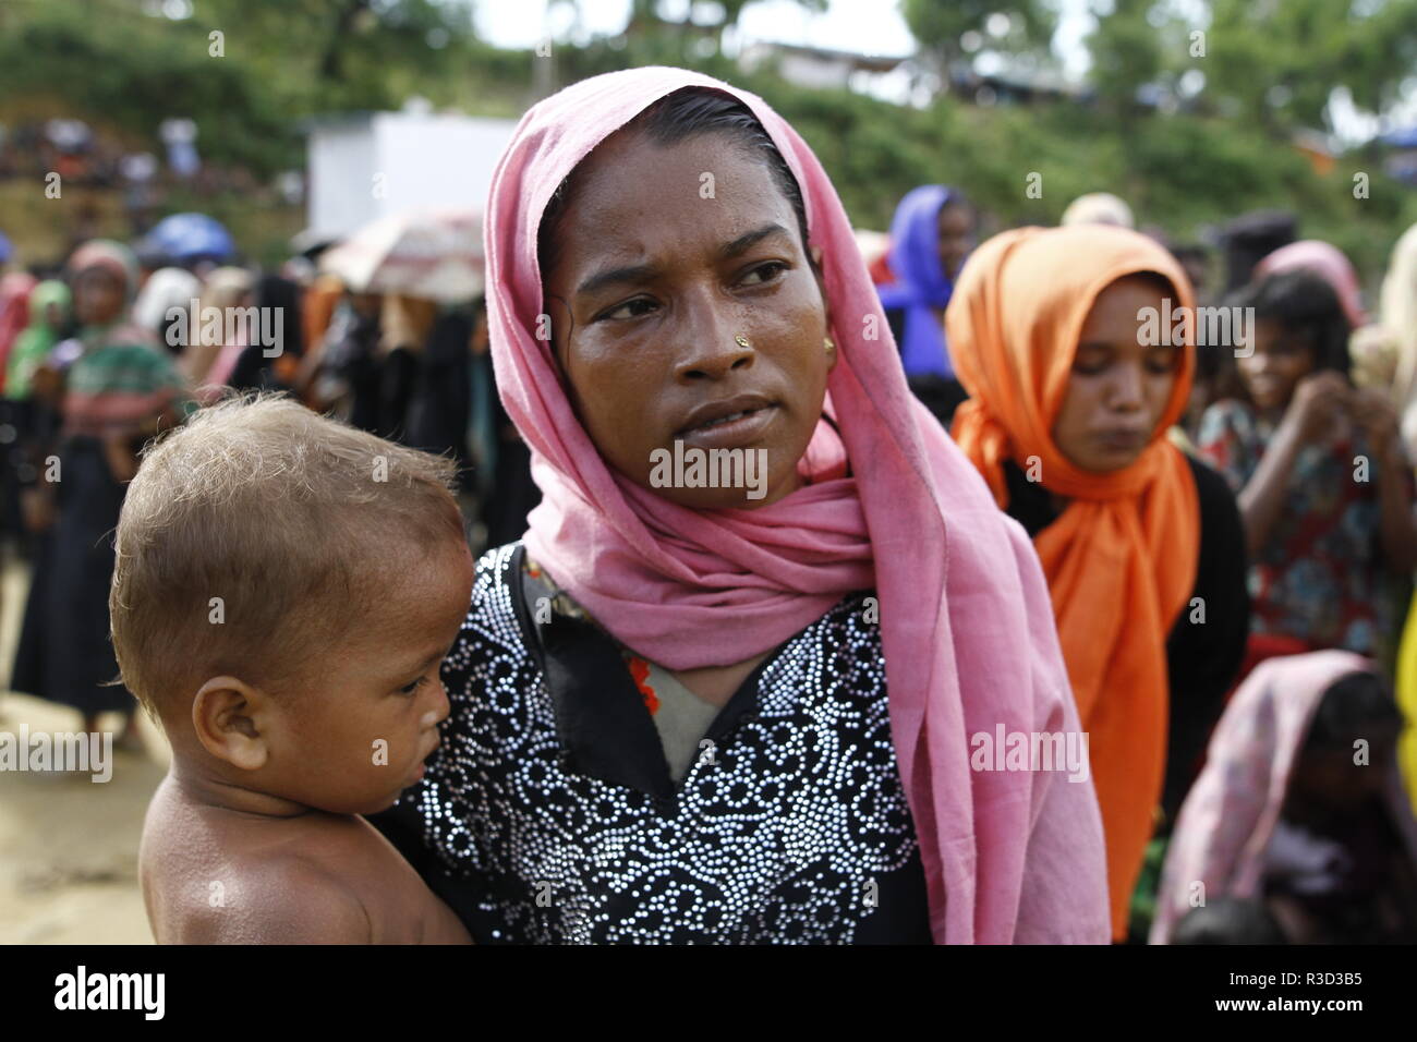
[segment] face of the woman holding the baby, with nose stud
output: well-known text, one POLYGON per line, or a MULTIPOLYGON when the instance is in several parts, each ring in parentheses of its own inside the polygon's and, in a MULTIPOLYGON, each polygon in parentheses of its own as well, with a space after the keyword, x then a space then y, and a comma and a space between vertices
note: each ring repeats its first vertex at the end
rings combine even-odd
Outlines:
POLYGON ((792 206, 762 160, 721 135, 669 147, 615 135, 577 173, 555 234, 553 347, 605 461, 694 509, 765 506, 799 488, 836 352, 792 206), (706 459, 748 449, 737 458, 764 476, 689 488, 684 468, 666 485, 676 441, 706 459))

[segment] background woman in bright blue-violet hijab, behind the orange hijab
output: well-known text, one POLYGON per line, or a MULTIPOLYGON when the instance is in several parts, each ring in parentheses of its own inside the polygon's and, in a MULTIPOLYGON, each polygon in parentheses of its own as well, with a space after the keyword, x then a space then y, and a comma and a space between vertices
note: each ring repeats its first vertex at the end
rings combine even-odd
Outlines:
POLYGON ((887 261, 896 281, 877 292, 911 388, 937 415, 952 413, 965 398, 949 362, 944 316, 973 240, 973 207, 944 184, 911 189, 890 225, 887 261))

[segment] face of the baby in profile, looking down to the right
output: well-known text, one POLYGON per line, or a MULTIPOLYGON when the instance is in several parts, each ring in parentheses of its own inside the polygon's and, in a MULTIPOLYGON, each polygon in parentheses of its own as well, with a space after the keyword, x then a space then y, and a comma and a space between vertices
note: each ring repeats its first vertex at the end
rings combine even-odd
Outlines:
POLYGON ((269 734, 279 795, 373 814, 422 777, 449 703, 439 665, 472 600, 472 557, 448 542, 368 605, 350 639, 309 663, 312 682, 269 734))

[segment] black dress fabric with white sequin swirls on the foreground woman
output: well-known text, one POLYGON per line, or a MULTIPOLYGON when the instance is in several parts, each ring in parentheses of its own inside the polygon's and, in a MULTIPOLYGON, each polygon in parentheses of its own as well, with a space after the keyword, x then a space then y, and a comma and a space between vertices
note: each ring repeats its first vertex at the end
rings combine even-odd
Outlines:
POLYGON ((524 943, 850 943, 876 882, 918 851, 880 629, 853 595, 768 662, 757 705, 673 801, 571 773, 510 583, 478 561, 444 663, 452 715, 401 802, 424 842, 524 943))

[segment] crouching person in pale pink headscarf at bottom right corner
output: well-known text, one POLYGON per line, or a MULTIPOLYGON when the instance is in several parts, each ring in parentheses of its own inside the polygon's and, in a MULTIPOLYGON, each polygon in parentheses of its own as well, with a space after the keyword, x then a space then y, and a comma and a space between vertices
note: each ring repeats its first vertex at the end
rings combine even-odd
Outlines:
POLYGON ((1417 940, 1403 717, 1374 669, 1321 651, 1250 673, 1176 822, 1152 944, 1417 940))

